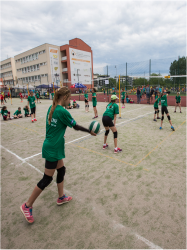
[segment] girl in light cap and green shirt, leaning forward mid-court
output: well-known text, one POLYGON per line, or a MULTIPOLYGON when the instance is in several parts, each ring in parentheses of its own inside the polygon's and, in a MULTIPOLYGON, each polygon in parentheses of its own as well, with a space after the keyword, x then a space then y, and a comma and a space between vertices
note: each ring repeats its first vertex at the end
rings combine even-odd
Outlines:
POLYGON ((119 107, 116 104, 118 97, 116 95, 111 96, 111 102, 106 106, 106 111, 103 114, 102 122, 103 126, 105 127, 105 135, 104 135, 104 144, 103 149, 108 148, 108 144, 106 143, 107 137, 109 134, 109 129, 112 130, 114 134, 114 153, 121 152, 122 149, 117 147, 117 129, 116 129, 116 117, 119 114, 119 107), (114 122, 113 122, 114 120, 114 122))

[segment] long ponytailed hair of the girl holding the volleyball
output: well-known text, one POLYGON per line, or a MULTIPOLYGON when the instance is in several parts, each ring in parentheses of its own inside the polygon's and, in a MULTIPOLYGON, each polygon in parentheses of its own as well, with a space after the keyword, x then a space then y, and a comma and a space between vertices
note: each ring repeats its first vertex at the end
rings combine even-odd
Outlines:
POLYGON ((48 122, 49 125, 51 124, 51 120, 52 120, 52 116, 53 116, 53 112, 55 111, 56 106, 58 105, 59 100, 63 97, 63 96, 67 96, 69 97, 70 95, 70 90, 63 86, 62 88, 58 89, 55 92, 54 98, 53 98, 53 105, 51 107, 51 110, 49 112, 49 116, 48 116, 48 122))

